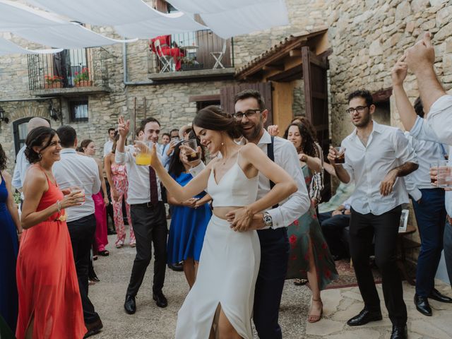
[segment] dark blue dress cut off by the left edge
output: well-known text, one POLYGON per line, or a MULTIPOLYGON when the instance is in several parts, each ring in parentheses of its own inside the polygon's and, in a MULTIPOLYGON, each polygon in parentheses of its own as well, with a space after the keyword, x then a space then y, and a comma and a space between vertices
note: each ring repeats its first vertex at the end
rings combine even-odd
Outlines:
POLYGON ((0 184, 0 314, 11 331, 16 332, 18 294, 16 261, 19 249, 16 226, 6 201, 8 191, 3 177, 0 184))

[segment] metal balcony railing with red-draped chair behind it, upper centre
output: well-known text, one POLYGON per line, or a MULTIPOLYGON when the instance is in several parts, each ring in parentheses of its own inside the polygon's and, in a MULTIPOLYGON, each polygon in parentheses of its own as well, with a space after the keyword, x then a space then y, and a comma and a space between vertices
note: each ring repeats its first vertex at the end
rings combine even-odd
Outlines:
POLYGON ((161 35, 149 40, 149 73, 234 67, 234 41, 211 30, 161 35))

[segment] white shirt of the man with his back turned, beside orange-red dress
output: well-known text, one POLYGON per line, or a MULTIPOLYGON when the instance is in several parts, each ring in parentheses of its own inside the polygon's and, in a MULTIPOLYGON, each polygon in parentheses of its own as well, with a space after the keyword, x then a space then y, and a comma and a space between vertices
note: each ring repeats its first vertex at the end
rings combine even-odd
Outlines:
POLYGON ((66 208, 67 222, 71 222, 94 213, 93 194, 100 191, 99 167, 93 158, 77 154, 73 148, 64 148, 60 156, 52 168, 59 189, 78 186, 85 190, 83 205, 66 208))

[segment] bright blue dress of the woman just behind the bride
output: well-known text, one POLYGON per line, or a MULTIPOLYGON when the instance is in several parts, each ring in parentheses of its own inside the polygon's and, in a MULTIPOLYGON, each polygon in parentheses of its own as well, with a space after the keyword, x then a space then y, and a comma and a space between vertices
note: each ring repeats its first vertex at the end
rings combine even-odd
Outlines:
MULTIPOLYGON (((179 177, 172 175, 181 186, 189 183, 193 177, 189 173, 181 173, 179 177)), ((206 193, 202 192, 195 198, 202 198, 206 193)), ((187 206, 173 206, 171 225, 169 225, 168 237, 168 263, 180 263, 186 258, 194 258, 199 261, 203 248, 204 234, 212 212, 208 203, 198 208, 187 206)))

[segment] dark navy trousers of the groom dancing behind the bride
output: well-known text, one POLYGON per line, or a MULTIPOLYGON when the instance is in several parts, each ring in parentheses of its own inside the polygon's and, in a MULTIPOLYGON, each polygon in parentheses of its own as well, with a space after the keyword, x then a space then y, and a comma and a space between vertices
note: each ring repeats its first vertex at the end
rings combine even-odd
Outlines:
POLYGON ((258 230, 257 234, 261 242, 261 266, 254 292, 253 321, 260 339, 281 339, 278 316, 289 260, 287 229, 258 230))

